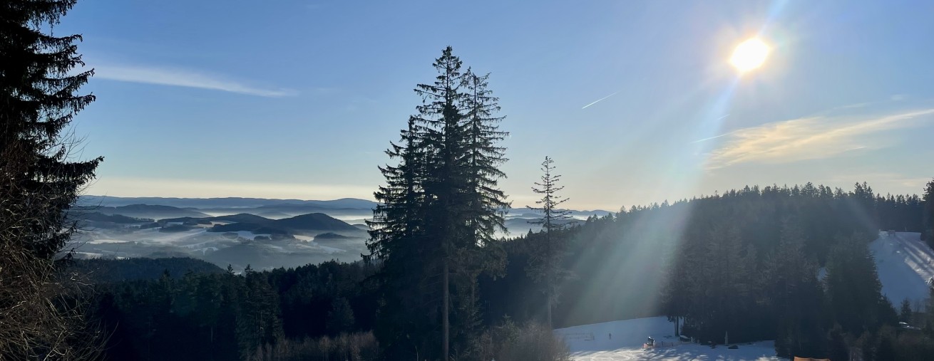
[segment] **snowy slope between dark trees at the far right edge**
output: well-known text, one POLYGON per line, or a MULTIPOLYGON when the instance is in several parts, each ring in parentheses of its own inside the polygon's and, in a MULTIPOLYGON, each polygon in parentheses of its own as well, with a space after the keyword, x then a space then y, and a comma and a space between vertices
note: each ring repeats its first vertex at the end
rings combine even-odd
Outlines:
POLYGON ((888 232, 870 243, 882 282, 882 293, 896 307, 902 299, 923 305, 929 297, 927 280, 934 277, 934 250, 920 239, 919 233, 888 232))

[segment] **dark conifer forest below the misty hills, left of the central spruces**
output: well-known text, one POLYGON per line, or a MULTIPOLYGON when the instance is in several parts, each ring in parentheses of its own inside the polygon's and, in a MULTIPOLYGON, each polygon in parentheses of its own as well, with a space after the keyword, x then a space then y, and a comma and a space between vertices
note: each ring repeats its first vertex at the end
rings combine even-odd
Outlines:
MULTIPOLYGON (((86 269, 97 269, 91 261, 86 269)), ((136 265, 106 270, 136 274, 136 265)), ((301 351, 304 340, 366 334, 375 322, 374 273, 361 262, 295 269, 186 271, 98 285, 92 319, 112 360, 267 360, 301 351), (288 349, 276 345, 286 342, 288 349)), ((375 350, 375 342, 371 347, 375 350)))

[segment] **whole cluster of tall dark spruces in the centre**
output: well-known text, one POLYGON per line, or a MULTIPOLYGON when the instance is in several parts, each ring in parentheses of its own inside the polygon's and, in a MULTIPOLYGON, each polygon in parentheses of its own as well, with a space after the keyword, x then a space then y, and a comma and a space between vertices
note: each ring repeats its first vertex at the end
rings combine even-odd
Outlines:
MULTIPOLYGON (((413 332, 405 340, 417 340, 407 344, 421 355, 446 359, 451 315, 456 332, 465 335, 476 324, 477 275, 502 269, 495 235, 505 230, 509 204, 498 188, 504 174, 497 167, 505 158, 497 144, 506 133, 498 130, 502 118, 495 115, 499 105, 487 76, 461 73, 460 58, 450 47, 432 65, 438 76, 431 84, 417 85, 422 104, 409 118, 400 145, 387 152, 399 164, 380 169, 387 185, 375 193, 383 204, 375 209, 368 244, 383 262, 384 285, 402 287, 386 288, 384 310, 399 312, 388 307, 392 299, 397 306, 420 303, 408 310, 430 310, 422 312, 428 314, 426 322, 409 324, 413 332), (439 283, 440 299, 435 297, 439 292, 431 291, 439 283), (413 293, 399 293, 413 286, 413 293), (432 315, 440 317, 442 336, 440 350, 434 351, 426 344, 436 329, 432 315)), ((399 347, 406 343, 398 340, 399 347)))

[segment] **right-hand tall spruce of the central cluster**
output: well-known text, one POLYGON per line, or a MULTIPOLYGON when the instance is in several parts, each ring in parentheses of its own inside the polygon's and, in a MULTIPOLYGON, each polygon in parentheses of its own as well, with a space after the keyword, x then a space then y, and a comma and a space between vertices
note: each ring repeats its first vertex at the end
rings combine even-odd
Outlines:
MULTIPOLYGON (((469 344, 478 337, 481 320, 478 307, 477 277, 482 272, 502 275, 505 252, 498 236, 504 234, 505 212, 510 204, 499 188, 505 174, 499 167, 506 161, 500 146, 508 132, 499 130, 505 117, 499 116, 499 99, 488 88, 489 75, 476 75, 468 68, 461 77, 460 137, 463 159, 459 167, 466 182, 460 185, 464 208, 459 221, 463 239, 454 248, 451 266, 453 343, 469 344)), ((462 349, 462 347, 460 348, 462 349)), ((461 352, 461 350, 456 350, 461 352)))

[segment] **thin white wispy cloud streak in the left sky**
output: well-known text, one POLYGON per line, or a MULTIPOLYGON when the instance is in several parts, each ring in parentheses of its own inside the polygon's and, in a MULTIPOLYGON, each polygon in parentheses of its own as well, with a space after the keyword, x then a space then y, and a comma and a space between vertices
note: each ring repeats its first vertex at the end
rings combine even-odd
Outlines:
POLYGON ((95 65, 94 67, 94 78, 97 79, 198 88, 206 90, 220 90, 270 98, 297 94, 297 92, 294 90, 264 89, 250 86, 243 82, 232 80, 224 76, 210 75, 206 72, 191 69, 135 65, 95 65))

